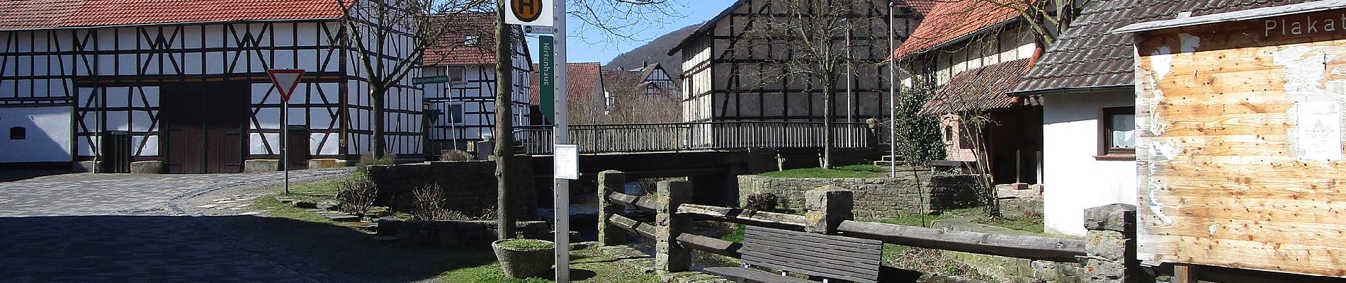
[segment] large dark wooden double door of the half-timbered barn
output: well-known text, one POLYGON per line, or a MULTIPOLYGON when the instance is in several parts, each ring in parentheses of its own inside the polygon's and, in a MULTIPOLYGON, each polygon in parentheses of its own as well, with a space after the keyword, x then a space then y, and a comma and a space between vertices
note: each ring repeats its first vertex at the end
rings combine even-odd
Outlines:
POLYGON ((160 115, 168 173, 240 173, 248 121, 248 84, 164 86, 160 115))

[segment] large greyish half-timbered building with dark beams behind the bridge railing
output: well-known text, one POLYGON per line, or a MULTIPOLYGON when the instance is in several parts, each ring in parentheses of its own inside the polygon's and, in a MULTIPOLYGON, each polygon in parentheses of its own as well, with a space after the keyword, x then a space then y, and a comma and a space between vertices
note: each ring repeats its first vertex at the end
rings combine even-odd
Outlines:
MULTIPOLYGON (((925 12, 934 0, 907 1, 910 8, 925 12)), ((676 47, 669 50, 669 55, 681 54, 684 75, 681 78, 681 93, 684 94, 685 122, 723 122, 723 121, 822 121, 824 94, 821 91, 805 91, 805 82, 785 80, 759 86, 759 68, 771 68, 763 59, 773 55, 789 54, 785 50, 766 50, 762 43, 750 43, 744 31, 752 24, 754 16, 773 15, 773 8, 779 8, 783 1, 770 0, 739 0, 725 8, 709 21, 701 24, 692 35, 682 39, 676 47)), ((888 1, 876 0, 871 12, 882 15, 874 17, 870 30, 855 31, 857 48, 853 51, 855 75, 849 76, 853 86, 853 103, 845 109, 844 91, 837 95, 837 117, 852 113, 857 121, 864 118, 882 117, 887 119, 887 64, 882 64, 888 54, 887 23, 888 1), (861 31, 879 31, 860 36, 861 31)), ((909 7, 902 7, 910 9, 909 7)), ((864 19, 864 17, 857 17, 864 19)), ((891 28, 903 36, 914 25, 914 16, 902 16, 891 28)), ((864 27, 864 24, 861 24, 864 27)), ((905 38, 903 38, 905 39, 905 38)), ((900 40, 898 40, 900 42, 900 40)), ((778 66, 774 66, 778 68, 778 66)), ((845 84, 843 84, 845 86, 845 84)))

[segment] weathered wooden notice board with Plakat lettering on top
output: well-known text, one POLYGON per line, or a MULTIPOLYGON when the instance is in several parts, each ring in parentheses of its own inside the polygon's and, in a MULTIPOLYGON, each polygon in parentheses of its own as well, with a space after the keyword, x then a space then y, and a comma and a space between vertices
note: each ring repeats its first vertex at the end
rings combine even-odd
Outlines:
POLYGON ((1346 276, 1346 1, 1139 23, 1137 258, 1346 276))

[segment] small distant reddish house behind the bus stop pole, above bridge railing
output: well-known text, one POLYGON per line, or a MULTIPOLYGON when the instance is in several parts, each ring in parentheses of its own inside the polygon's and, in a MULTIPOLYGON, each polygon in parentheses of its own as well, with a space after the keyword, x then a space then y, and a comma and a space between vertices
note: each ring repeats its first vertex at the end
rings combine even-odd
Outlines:
MULTIPOLYGON (((602 119, 603 110, 603 75, 602 64, 598 62, 584 62, 584 63, 568 63, 565 64, 565 97, 569 106, 569 118, 567 119, 571 125, 583 123, 596 123, 602 119)), ((551 125, 542 110, 542 95, 541 89, 538 89, 538 67, 533 64, 533 71, 529 72, 529 80, 532 83, 532 94, 529 95, 533 113, 533 125, 551 125)))

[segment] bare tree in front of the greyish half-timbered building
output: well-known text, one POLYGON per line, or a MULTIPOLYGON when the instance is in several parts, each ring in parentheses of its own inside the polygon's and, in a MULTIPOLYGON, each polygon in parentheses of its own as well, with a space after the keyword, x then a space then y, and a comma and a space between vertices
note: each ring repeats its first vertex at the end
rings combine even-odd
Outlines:
POLYGON ((770 3, 770 12, 754 13, 743 38, 746 48, 777 50, 760 59, 766 66, 758 74, 759 86, 789 80, 804 93, 822 93, 822 168, 830 169, 835 148, 836 94, 851 51, 875 47, 886 40, 886 31, 875 31, 875 24, 887 27, 887 1, 875 0, 781 0, 770 3), (848 34, 859 32, 851 36, 848 34))

